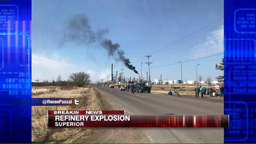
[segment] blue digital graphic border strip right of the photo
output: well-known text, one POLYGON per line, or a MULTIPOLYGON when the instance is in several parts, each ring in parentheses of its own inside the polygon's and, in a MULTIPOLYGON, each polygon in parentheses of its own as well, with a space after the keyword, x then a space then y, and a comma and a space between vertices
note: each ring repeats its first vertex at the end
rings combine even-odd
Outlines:
POLYGON ((256 142, 256 2, 224 1, 225 143, 256 142), (253 41, 253 42, 252 42, 253 41))

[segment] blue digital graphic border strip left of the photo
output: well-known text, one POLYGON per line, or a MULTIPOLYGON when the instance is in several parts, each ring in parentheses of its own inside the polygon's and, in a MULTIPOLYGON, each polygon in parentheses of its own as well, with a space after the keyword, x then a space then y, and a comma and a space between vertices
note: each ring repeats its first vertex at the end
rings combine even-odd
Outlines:
POLYGON ((0 142, 31 143, 31 0, 1 1, 0 11, 0 142))

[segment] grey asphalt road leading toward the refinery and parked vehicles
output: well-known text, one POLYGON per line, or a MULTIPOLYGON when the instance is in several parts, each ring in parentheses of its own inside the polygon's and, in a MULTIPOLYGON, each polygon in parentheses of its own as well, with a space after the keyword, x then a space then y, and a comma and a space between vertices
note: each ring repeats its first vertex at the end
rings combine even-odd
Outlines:
MULTIPOLYGON (((95 86, 107 109, 126 110, 126 115, 222 115, 223 104, 199 99, 135 92, 95 86)), ((120 130, 120 129, 118 129, 120 130)), ((125 128, 125 130, 129 130, 125 128)), ((108 129, 105 129, 105 132, 108 129)), ((223 143, 224 128, 137 128, 151 143, 223 143)), ((124 141, 125 137, 123 138, 124 141)), ((104 141, 103 141, 104 142, 104 141)), ((120 142, 120 141, 118 141, 120 142)), ((144 142, 144 141, 134 141, 144 142)))

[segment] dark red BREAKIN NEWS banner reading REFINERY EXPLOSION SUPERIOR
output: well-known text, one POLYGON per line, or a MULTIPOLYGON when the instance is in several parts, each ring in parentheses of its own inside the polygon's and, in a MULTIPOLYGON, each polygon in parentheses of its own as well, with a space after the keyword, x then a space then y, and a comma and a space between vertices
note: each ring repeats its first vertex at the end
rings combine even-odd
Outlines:
POLYGON ((228 115, 105 115, 120 111, 124 112, 49 110, 48 127, 228 127, 229 119, 228 115))

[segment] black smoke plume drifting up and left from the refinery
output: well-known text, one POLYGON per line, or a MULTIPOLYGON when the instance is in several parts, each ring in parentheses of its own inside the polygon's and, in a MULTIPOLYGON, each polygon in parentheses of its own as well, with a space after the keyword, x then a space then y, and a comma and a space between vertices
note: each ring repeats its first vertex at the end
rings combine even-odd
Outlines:
POLYGON ((108 29, 97 29, 93 31, 89 25, 85 14, 76 14, 67 22, 67 31, 64 41, 75 41, 79 44, 100 43, 108 52, 109 56, 115 56, 126 65, 127 68, 133 70, 136 74, 138 71, 130 64, 130 60, 124 56, 124 51, 120 49, 120 44, 113 44, 111 40, 104 39, 108 29))

